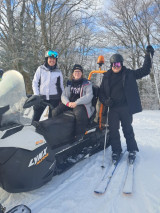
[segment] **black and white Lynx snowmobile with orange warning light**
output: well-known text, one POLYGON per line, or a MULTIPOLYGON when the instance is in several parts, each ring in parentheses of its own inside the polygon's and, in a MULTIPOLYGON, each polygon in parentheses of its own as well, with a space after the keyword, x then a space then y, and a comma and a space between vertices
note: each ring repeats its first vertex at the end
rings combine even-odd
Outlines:
MULTIPOLYGON (((94 72, 105 71, 99 68, 94 72)), ((93 106, 96 107, 99 88, 93 86, 93 91, 93 106)), ((41 96, 27 98, 24 79, 18 71, 3 74, 0 82, 0 187, 7 192, 37 189, 54 175, 103 149, 106 128, 94 121, 96 110, 83 138, 76 140, 75 117, 71 111, 54 119, 32 122, 33 106, 38 104, 48 103, 41 96)))

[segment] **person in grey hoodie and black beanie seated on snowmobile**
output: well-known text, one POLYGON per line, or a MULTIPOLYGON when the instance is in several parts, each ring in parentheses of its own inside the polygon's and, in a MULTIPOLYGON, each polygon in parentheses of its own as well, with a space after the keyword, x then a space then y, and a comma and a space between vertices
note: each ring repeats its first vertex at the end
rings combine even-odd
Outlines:
POLYGON ((62 93, 62 103, 52 111, 52 116, 55 117, 64 111, 72 110, 76 118, 75 137, 77 140, 83 137, 88 119, 94 112, 92 98, 92 83, 83 77, 82 66, 75 64, 71 80, 67 82, 67 87, 62 93))

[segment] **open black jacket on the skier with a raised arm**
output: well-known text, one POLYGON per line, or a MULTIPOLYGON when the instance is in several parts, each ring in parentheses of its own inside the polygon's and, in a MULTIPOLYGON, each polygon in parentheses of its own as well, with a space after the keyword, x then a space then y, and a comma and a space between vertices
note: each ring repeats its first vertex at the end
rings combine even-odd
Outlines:
MULTIPOLYGON (((127 105, 129 107, 129 112, 131 114, 135 114, 137 112, 142 111, 136 80, 148 75, 150 73, 150 68, 151 60, 149 54, 145 55, 145 60, 141 68, 136 70, 127 69, 125 66, 123 66, 122 68, 122 83, 124 87, 127 105)), ((110 98, 109 81, 111 77, 111 72, 112 70, 110 69, 107 73, 104 74, 100 86, 99 100, 103 105, 105 105, 105 100, 110 98)))

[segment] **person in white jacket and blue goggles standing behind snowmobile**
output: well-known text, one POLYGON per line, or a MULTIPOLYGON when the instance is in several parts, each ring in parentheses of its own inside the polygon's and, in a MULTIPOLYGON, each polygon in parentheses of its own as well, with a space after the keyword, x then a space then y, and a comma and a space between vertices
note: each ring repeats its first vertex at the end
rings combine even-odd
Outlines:
MULTIPOLYGON (((34 95, 40 95, 51 104, 52 109, 58 106, 63 87, 63 75, 57 68, 58 53, 52 50, 46 51, 45 63, 35 72, 32 88, 34 95)), ((35 106, 33 121, 39 121, 45 106, 35 106)), ((49 108, 49 118, 52 117, 52 109, 49 108)))

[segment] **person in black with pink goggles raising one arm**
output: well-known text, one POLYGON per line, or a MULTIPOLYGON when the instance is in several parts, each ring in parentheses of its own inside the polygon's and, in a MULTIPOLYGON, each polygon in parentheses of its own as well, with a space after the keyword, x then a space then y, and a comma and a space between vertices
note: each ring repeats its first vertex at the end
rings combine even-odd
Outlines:
POLYGON ((118 160, 122 152, 120 122, 127 143, 129 159, 135 159, 136 151, 139 151, 132 127, 132 115, 142 111, 136 80, 150 73, 152 65, 150 57, 153 55, 153 47, 147 46, 143 66, 131 70, 123 66, 123 57, 120 54, 114 54, 110 58, 111 69, 104 74, 102 79, 99 100, 105 107, 109 107, 109 140, 113 161, 118 160))

